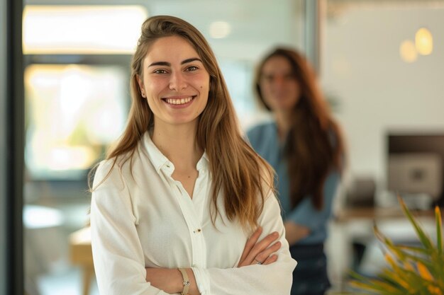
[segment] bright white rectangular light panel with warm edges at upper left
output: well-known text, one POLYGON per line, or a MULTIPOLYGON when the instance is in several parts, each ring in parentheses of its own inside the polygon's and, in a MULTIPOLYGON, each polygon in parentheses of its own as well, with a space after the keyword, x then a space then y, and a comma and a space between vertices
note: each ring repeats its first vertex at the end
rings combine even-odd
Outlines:
POLYGON ((30 6, 24 54, 131 54, 148 12, 143 6, 30 6))

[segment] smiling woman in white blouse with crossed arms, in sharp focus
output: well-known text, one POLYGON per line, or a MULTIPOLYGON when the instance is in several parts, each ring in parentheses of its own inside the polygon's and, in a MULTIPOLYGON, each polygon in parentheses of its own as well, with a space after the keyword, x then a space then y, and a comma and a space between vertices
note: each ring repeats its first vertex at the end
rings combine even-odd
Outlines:
POLYGON ((240 134, 201 33, 148 18, 131 94, 128 125, 91 187, 101 294, 289 294, 296 262, 272 168, 240 134))

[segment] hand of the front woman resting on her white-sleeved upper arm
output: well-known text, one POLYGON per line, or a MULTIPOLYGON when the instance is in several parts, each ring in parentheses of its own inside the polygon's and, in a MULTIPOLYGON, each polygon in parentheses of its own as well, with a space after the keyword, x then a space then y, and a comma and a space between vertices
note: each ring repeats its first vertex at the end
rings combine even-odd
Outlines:
POLYGON ((279 238, 279 233, 274 231, 261 241, 257 242, 261 233, 262 227, 259 227, 252 236, 248 238, 242 256, 240 256, 238 267, 255 264, 270 265, 277 260, 277 255, 272 253, 281 248, 281 242, 278 241, 274 244, 272 243, 279 238))

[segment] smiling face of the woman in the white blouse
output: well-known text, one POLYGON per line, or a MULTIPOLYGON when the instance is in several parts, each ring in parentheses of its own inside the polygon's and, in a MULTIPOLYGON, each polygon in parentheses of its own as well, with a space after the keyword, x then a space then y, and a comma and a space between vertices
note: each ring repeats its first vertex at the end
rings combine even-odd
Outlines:
POLYGON ((199 54, 182 37, 161 37, 143 60, 138 77, 155 126, 196 124, 208 101, 210 76, 199 54))

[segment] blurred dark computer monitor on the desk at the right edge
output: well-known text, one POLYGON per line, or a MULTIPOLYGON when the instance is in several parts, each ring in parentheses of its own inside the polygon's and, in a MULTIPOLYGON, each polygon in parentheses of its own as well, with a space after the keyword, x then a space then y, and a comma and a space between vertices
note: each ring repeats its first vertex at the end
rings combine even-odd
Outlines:
POLYGON ((442 201, 444 132, 387 134, 387 189, 442 201))

